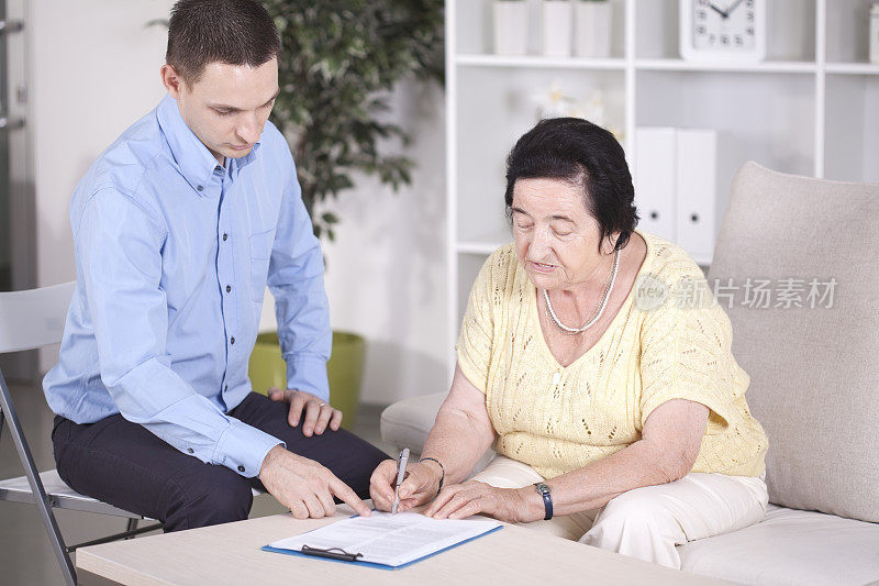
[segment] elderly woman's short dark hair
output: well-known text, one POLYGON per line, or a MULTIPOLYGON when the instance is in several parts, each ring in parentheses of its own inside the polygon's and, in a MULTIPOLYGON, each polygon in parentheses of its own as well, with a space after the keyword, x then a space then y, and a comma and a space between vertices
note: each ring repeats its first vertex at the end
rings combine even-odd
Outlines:
POLYGON ((519 179, 560 179, 580 187, 587 211, 601 226, 602 241, 620 232, 616 248, 628 243, 638 223, 625 152, 613 134, 587 120, 541 120, 519 139, 507 158, 508 215, 519 179))

